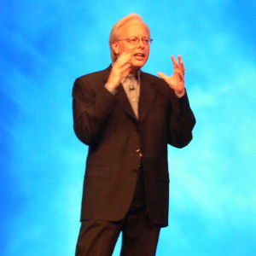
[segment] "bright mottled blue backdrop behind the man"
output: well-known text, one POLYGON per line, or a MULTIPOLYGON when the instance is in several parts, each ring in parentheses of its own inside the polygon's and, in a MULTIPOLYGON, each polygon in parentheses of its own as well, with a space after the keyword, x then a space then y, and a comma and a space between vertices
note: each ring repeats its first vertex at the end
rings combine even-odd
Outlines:
MULTIPOLYGON (((132 12, 154 42, 143 71, 182 55, 197 124, 169 147, 169 227, 157 255, 255 255, 256 2, 1 1, 1 255, 73 255, 87 147, 73 81, 108 67, 108 35, 132 12)), ((119 244, 114 255, 119 255, 119 244)))

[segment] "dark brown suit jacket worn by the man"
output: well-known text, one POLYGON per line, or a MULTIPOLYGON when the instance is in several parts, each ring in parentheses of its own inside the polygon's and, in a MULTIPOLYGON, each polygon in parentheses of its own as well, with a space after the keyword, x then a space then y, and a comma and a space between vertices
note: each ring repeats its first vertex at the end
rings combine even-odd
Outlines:
POLYGON ((175 96, 162 80, 141 73, 139 120, 122 86, 106 88, 111 67, 76 79, 73 85, 74 131, 89 145, 81 220, 118 221, 125 217, 137 182, 143 152, 146 203, 154 224, 168 224, 167 143, 183 148, 192 139, 195 117, 187 95, 175 96))

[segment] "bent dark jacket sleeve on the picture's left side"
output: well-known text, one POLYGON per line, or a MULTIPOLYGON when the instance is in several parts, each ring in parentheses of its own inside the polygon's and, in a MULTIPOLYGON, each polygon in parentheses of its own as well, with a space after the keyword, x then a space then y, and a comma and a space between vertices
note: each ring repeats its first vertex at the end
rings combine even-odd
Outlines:
POLYGON ((87 145, 96 144, 114 106, 114 96, 103 85, 99 87, 85 78, 76 79, 73 84, 73 129, 79 140, 87 145))

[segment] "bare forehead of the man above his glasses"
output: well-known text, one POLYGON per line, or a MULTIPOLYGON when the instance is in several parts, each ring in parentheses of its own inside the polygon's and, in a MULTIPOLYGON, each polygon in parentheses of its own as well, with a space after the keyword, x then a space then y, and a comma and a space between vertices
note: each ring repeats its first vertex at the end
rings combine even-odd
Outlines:
POLYGON ((146 26, 141 20, 129 20, 119 28, 119 36, 148 37, 148 26, 146 26))

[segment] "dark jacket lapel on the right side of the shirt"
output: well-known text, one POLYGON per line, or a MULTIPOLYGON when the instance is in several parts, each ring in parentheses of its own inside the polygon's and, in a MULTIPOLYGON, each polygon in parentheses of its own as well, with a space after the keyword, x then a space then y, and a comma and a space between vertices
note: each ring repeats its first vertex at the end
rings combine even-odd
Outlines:
POLYGON ((150 79, 148 79, 146 73, 141 73, 141 92, 140 92, 140 101, 139 101, 139 119, 143 121, 148 113, 152 102, 154 102, 154 97, 156 95, 156 90, 154 84, 150 79))

